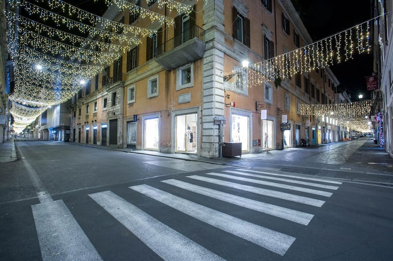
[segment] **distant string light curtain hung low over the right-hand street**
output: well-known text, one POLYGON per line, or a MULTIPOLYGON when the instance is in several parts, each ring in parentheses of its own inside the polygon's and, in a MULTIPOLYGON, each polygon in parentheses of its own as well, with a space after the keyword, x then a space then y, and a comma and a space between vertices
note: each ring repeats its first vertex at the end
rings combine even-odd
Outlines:
POLYGON ((300 104, 300 113, 314 116, 323 122, 330 122, 331 119, 332 124, 351 130, 368 132, 372 104, 372 100, 347 104, 300 104))

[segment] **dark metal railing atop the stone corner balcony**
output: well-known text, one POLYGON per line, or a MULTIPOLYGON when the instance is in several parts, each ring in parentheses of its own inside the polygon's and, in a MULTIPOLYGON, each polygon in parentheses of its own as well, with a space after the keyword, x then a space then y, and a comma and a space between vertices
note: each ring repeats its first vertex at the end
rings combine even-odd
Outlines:
POLYGON ((204 42, 205 30, 199 26, 193 26, 190 29, 181 32, 179 35, 175 35, 175 37, 169 39, 164 44, 157 47, 157 57, 164 54, 165 52, 173 50, 174 48, 188 42, 191 39, 194 39, 195 37, 204 42))

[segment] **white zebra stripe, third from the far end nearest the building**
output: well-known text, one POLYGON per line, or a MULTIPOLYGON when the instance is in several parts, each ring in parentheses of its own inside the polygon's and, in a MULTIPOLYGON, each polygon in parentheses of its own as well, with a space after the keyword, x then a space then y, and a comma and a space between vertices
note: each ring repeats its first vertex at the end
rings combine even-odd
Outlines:
POLYGON ((331 192, 322 191, 322 190, 316 190, 316 189, 311 189, 311 188, 298 187, 298 186, 292 186, 292 185, 286 185, 286 184, 280 184, 280 183, 274 183, 274 182, 268 182, 268 181, 253 180, 253 179, 237 177, 237 176, 221 174, 221 173, 215 173, 215 172, 209 172, 209 173, 205 173, 205 174, 228 178, 228 179, 233 179, 233 180, 238 180, 238 181, 246 181, 246 182, 257 183, 257 184, 262 184, 262 185, 281 187, 281 188, 285 188, 285 189, 301 191, 301 192, 306 192, 306 193, 325 196, 325 197, 330 197, 333 195, 333 193, 331 193, 331 192))

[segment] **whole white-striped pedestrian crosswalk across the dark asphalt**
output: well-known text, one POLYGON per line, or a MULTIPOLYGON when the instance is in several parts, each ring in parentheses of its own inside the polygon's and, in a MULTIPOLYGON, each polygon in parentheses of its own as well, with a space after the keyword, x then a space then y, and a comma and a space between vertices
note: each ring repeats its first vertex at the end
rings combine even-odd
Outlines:
MULTIPOLYGON (((166 213, 169 211, 176 219, 187 217, 199 226, 205 224, 284 256, 299 235, 291 235, 293 231, 288 229, 288 223, 272 226, 269 221, 308 226, 315 210, 331 200, 341 184, 239 168, 161 178, 125 187, 126 192, 122 190, 120 195, 106 190, 88 197, 164 260, 225 260, 217 249, 209 248, 213 242, 201 245, 184 229, 174 223, 166 224, 167 219, 147 211, 146 204, 164 206, 168 209, 166 213), (223 206, 232 207, 223 210, 223 206), (257 222, 231 208, 245 209, 244 213, 252 213, 257 222)), ((103 250, 95 248, 92 238, 85 235, 61 200, 33 205, 32 211, 43 260, 53 260, 54 255, 59 260, 81 260, 75 259, 75 253, 84 253, 83 260, 102 260, 99 253, 103 250)), ((205 238, 209 240, 208 235, 205 238)))

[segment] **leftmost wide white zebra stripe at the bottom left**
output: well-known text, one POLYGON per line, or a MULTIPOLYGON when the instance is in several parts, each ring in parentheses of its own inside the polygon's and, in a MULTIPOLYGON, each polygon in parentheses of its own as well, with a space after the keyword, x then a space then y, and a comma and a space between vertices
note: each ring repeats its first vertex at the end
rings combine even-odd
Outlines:
POLYGON ((32 205, 42 260, 102 260, 62 200, 32 205))

